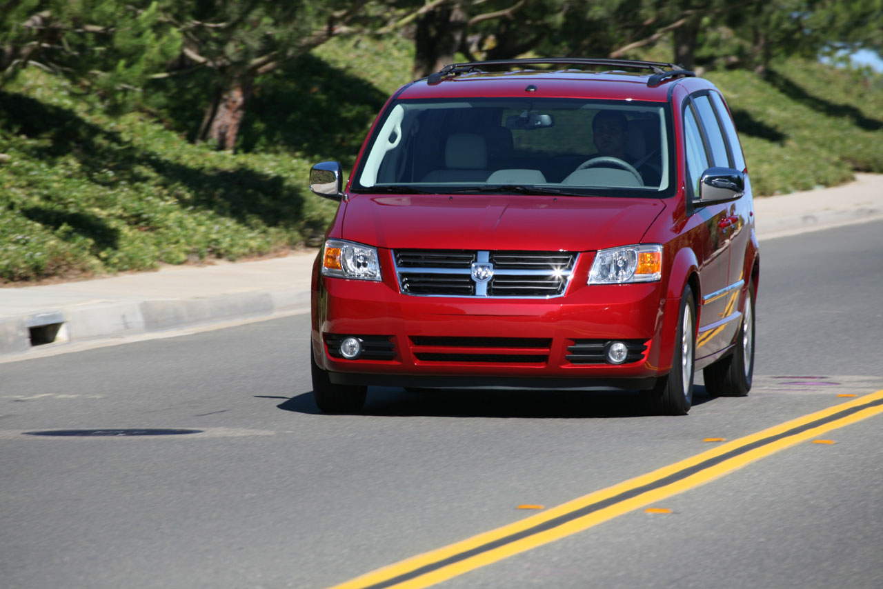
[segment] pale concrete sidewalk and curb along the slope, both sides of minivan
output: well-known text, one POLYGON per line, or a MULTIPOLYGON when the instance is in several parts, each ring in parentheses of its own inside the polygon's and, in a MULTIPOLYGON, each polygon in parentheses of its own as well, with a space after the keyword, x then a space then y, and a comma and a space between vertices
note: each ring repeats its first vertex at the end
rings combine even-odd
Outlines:
MULTIPOLYGON (((758 239, 883 219, 883 175, 755 200, 758 239)), ((0 358, 70 342, 123 338, 307 310, 315 252, 73 283, 0 289, 0 358)))

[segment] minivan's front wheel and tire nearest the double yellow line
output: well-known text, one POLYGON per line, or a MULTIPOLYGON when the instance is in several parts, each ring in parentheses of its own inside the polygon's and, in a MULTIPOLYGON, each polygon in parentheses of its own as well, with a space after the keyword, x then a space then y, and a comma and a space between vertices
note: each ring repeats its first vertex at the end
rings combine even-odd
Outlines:
POLYGON ((671 371, 645 391, 645 402, 663 415, 686 415, 693 404, 694 359, 696 356, 696 301, 690 285, 681 295, 681 309, 675 329, 675 354, 671 371))

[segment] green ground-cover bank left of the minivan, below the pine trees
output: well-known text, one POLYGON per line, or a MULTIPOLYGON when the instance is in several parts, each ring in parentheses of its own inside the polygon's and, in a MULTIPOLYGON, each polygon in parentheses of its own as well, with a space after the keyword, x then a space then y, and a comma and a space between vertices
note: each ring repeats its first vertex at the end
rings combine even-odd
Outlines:
POLYGON ((282 252, 316 243, 333 214, 291 155, 193 147, 41 72, 15 89, 0 94, 3 280, 282 252))

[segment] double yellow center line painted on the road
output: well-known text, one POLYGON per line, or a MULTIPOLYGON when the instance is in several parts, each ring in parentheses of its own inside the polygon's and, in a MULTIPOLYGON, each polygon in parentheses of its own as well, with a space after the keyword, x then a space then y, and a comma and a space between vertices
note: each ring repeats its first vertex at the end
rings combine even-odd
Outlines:
POLYGON ((332 589, 416 589, 495 563, 683 493, 838 427, 883 412, 883 390, 716 446, 513 524, 374 570, 332 589))

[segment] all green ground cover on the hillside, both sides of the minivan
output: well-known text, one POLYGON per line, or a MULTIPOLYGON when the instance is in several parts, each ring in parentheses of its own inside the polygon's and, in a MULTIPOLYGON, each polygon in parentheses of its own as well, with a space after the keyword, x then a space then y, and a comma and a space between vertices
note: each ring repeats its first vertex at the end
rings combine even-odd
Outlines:
MULTIPOLYGON (((117 116, 28 68, 0 92, 0 281, 317 245, 336 207, 306 191, 307 170, 351 166, 377 109, 411 79, 413 51, 399 35, 336 38, 263 74, 236 155, 187 140, 199 74, 149 82, 142 108, 117 116)), ((883 172, 883 76, 791 59, 766 77, 707 77, 733 109, 756 194, 883 172)))

